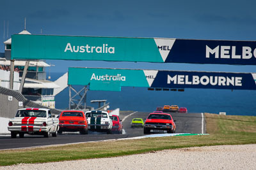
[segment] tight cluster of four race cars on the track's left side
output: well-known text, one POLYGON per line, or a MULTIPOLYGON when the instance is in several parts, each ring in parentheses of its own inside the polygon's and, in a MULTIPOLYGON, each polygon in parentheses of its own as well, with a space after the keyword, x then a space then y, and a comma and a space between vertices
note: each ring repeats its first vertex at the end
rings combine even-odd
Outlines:
POLYGON ((122 133, 122 120, 117 115, 109 116, 106 111, 62 111, 59 118, 45 108, 23 108, 17 111, 8 123, 8 131, 12 138, 24 138, 24 134, 44 135, 56 137, 62 132, 80 132, 88 134, 88 130, 96 132, 122 133))

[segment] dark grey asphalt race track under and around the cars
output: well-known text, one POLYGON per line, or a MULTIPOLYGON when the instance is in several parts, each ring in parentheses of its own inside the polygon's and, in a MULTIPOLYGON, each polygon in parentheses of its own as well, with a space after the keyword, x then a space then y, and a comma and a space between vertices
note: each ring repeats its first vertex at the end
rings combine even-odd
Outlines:
MULTIPOLYGON (((132 111, 120 113, 120 118, 124 120, 123 134, 106 134, 106 132, 99 133, 89 131, 89 134, 87 135, 81 135, 78 132, 65 132, 63 134, 59 134, 56 138, 53 138, 52 136, 44 138, 44 136, 26 134, 24 138, 19 138, 19 135, 17 138, 0 136, 0 150, 143 136, 143 128, 131 128, 131 120, 132 118, 143 118, 143 120, 145 120, 148 114, 148 112, 134 113, 132 111), (127 117, 127 115, 129 116, 127 117)), ((205 120, 202 118, 202 113, 171 113, 171 115, 173 119, 176 120, 176 133, 205 133, 205 120)))

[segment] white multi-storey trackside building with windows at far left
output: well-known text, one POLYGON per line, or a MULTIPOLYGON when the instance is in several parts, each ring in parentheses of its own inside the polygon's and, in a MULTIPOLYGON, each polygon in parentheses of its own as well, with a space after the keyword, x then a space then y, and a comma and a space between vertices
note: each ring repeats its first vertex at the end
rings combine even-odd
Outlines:
MULTIPOLYGON (((19 34, 31 34, 24 30, 19 34)), ((0 55, 0 86, 10 87, 10 65, 12 54, 12 38, 4 41, 4 53, 0 55)), ((19 90, 20 81, 27 60, 14 61, 13 90, 19 90), (18 78, 19 77, 19 78, 18 78)), ((49 81, 46 78, 46 67, 51 67, 44 60, 29 60, 28 72, 22 94, 24 97, 49 108, 55 108, 55 96, 67 87, 67 74, 61 81, 49 81), (58 85, 60 84, 61 85, 58 85)))

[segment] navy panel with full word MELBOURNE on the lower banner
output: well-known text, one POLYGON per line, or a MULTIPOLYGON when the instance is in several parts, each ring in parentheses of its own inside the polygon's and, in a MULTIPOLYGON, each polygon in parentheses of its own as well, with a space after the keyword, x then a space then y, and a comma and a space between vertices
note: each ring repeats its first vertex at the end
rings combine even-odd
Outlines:
POLYGON ((158 71, 151 87, 256 90, 256 74, 158 71))

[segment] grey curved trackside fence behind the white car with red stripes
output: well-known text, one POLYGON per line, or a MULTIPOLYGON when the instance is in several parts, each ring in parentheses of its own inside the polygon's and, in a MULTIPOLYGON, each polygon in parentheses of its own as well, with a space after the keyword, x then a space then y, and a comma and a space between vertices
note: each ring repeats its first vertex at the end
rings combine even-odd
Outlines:
MULTIPOLYGON (((20 108, 47 108, 41 104, 26 99, 20 92, 0 87, 0 117, 12 118, 20 108), (12 100, 8 96, 12 96, 12 100), (22 102, 23 106, 19 106, 22 102)), ((55 115, 61 113, 61 110, 49 108, 55 115)))

